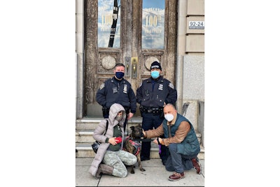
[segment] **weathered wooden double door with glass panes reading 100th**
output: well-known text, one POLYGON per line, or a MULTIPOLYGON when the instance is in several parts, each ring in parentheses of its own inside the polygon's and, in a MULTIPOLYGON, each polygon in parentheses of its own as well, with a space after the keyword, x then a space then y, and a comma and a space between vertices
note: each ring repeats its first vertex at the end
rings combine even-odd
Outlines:
POLYGON ((85 0, 83 116, 102 116, 95 95, 118 62, 125 64, 135 94, 155 60, 175 84, 176 7, 167 0, 85 0))

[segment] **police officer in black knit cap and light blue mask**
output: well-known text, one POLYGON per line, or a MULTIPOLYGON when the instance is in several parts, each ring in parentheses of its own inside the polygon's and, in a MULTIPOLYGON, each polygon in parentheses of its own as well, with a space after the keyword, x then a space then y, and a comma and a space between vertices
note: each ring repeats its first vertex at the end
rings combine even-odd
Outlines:
MULTIPOLYGON (((140 112, 143 117, 142 128, 152 130, 161 125, 164 119, 163 107, 168 104, 175 104, 177 90, 166 78, 160 76, 162 67, 159 62, 151 64, 151 77, 144 80, 137 89, 137 102, 140 104, 140 112)), ((141 160, 150 160, 151 141, 143 141, 141 146, 141 160)), ((168 148, 160 146, 160 158, 163 165, 167 160, 168 148)))

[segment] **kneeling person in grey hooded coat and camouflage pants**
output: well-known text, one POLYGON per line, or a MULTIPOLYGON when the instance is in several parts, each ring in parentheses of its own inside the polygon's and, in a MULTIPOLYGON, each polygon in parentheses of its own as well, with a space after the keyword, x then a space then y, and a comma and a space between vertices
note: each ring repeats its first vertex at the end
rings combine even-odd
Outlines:
POLYGON ((127 176, 125 165, 134 165, 137 162, 135 155, 123 151, 125 118, 123 106, 113 104, 110 107, 109 118, 102 120, 94 130, 93 138, 102 144, 98 148, 89 172, 97 179, 101 177, 101 174, 125 177, 127 176), (107 120, 108 130, 106 131, 107 120), (105 131, 106 134, 104 134, 105 131))

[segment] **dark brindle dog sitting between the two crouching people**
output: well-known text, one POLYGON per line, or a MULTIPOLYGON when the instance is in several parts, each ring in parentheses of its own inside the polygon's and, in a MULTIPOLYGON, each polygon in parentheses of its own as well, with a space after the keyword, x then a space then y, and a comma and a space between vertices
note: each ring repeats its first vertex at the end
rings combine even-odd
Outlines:
MULTIPOLYGON (((139 139, 141 139, 141 137, 144 137, 144 134, 142 131, 143 129, 140 124, 138 124, 136 126, 132 126, 132 127, 130 127, 130 129, 132 130, 132 133, 130 134, 129 137, 127 137, 125 139, 124 145, 123 145, 123 150, 136 155, 140 171, 145 172, 146 170, 141 165, 141 158, 140 158, 141 144, 139 143, 139 139), (134 141, 134 139, 138 139, 138 141, 134 141)), ((131 174, 135 173, 134 167, 135 167, 134 165, 131 166, 131 170, 130 170, 131 174)))

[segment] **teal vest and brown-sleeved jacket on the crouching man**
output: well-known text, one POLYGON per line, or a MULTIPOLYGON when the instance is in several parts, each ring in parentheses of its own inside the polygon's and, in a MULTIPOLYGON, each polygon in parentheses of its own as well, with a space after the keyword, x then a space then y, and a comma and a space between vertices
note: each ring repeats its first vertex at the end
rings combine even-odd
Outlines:
POLYGON ((197 135, 195 134, 195 129, 190 121, 184 116, 177 113, 176 120, 174 125, 170 127, 170 132, 172 137, 168 136, 168 126, 167 120, 162 121, 162 125, 160 125, 155 130, 146 131, 147 138, 160 137, 164 134, 165 146, 169 146, 169 144, 176 143, 177 144, 177 153, 181 153, 183 155, 197 155, 200 153, 200 142, 197 139, 197 135), (181 130, 179 130, 179 126, 182 126, 181 130))

